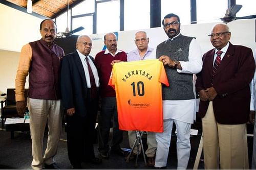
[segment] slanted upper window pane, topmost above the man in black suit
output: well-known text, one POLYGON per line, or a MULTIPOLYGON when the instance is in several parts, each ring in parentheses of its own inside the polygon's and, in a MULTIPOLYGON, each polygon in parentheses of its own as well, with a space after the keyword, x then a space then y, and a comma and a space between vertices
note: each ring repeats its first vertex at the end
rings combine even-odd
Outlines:
POLYGON ((94 0, 86 0, 72 8, 72 16, 94 12, 94 0))

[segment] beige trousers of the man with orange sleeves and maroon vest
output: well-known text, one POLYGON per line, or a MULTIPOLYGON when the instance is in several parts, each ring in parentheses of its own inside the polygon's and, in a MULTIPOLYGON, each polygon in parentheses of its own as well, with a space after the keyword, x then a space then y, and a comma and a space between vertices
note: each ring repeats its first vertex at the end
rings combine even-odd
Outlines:
POLYGON ((32 139, 31 166, 33 169, 41 169, 43 164, 54 163, 53 157, 57 153, 57 145, 61 133, 62 105, 61 100, 27 99, 30 112, 30 135, 32 139), (43 139, 48 123, 48 140, 45 154, 43 155, 43 139))

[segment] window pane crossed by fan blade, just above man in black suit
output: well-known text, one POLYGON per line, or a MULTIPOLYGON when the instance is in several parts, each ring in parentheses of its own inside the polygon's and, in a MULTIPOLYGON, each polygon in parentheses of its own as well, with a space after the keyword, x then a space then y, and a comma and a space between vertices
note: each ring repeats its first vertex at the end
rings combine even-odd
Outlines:
POLYGON ((78 27, 83 27, 84 29, 74 33, 74 35, 91 35, 93 34, 93 16, 84 16, 73 18, 73 30, 78 27))

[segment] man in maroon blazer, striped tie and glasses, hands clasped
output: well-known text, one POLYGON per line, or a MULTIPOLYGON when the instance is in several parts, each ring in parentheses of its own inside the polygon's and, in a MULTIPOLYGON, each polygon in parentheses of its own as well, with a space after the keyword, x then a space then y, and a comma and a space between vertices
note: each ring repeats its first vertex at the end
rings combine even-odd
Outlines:
POLYGON ((196 81, 205 169, 248 169, 246 123, 249 83, 255 70, 252 51, 231 44, 224 23, 215 25, 209 36, 215 48, 203 55, 203 69, 196 81))

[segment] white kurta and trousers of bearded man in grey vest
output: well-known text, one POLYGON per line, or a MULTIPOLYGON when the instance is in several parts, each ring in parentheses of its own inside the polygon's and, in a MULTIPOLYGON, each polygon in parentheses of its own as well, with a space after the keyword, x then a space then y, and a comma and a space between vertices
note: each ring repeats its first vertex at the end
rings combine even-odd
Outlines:
MULTIPOLYGON (((174 37, 175 38, 175 37, 174 37)), ((197 74, 202 69, 201 48, 195 39, 191 40, 188 61, 180 61, 180 74, 197 74)), ((172 78, 168 78, 172 79, 172 78)), ((193 87, 196 96, 195 88, 193 87)), ((166 166, 169 144, 172 137, 173 123, 177 127, 177 157, 178 169, 186 169, 190 153, 189 133, 191 124, 196 118, 196 99, 163 100, 164 132, 156 133, 157 153, 155 167, 166 166)))

